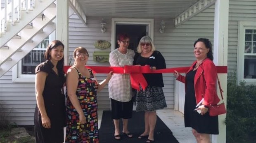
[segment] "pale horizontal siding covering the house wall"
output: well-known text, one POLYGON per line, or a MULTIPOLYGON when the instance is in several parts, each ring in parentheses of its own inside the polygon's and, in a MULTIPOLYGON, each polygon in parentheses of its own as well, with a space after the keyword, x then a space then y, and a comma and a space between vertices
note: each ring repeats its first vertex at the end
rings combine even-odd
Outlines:
MULTIPOLYGON (((236 71, 237 67, 237 35, 238 21, 256 21, 256 0, 230 0, 228 34, 228 71, 236 71)), ((121 18, 121 17, 119 17, 121 18)), ((69 51, 83 46, 89 52, 88 65, 109 66, 108 62, 98 63, 92 60, 93 51, 102 51, 94 48, 96 40, 111 40, 111 18, 104 17, 106 32, 100 31, 102 17, 88 17, 88 24, 84 25, 76 15, 69 19, 69 51)), ((154 19, 154 44, 166 60, 167 67, 190 66, 195 60, 193 55, 194 41, 205 37, 213 42, 214 6, 209 7, 197 16, 177 28, 173 19, 163 19, 166 30, 159 33, 159 23, 162 18, 154 19)), ((110 48, 105 51, 110 51, 110 48)), ((73 61, 72 61, 73 62, 73 61)), ((105 78, 105 74, 97 74, 98 81, 105 78)), ((174 78, 172 74, 164 74, 164 93, 168 108, 174 108, 174 78)), ((33 113, 36 104, 34 83, 13 83, 12 71, 8 71, 0 78, 0 103, 10 121, 17 125, 33 125, 33 113)), ((99 108, 109 109, 110 101, 107 86, 98 94, 99 108)))

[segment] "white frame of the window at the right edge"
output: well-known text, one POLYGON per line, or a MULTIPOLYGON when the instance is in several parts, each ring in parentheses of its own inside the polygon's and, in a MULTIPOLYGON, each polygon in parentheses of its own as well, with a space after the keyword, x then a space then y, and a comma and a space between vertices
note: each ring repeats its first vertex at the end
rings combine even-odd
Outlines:
POLYGON ((247 85, 256 85, 256 79, 244 78, 244 43, 245 30, 256 30, 255 21, 239 21, 238 22, 238 41, 237 41, 237 82, 245 81, 247 85))

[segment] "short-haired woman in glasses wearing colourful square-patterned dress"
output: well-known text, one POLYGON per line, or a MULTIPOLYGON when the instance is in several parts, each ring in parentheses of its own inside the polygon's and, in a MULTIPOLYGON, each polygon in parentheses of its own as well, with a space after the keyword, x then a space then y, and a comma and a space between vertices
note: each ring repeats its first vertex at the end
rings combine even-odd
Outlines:
POLYGON ((66 143, 99 143, 97 92, 107 85, 112 71, 98 83, 92 70, 85 67, 88 56, 85 48, 76 48, 73 52, 75 63, 66 74, 66 143))

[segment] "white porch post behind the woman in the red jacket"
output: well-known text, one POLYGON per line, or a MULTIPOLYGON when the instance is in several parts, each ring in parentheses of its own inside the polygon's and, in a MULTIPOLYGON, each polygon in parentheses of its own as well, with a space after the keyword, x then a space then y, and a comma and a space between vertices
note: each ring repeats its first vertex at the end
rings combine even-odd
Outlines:
MULTIPOLYGON (((216 0, 214 16, 213 62, 215 65, 228 65, 228 12, 229 0, 216 0)), ((227 74, 218 74, 224 93, 225 105, 227 99, 227 74)), ((218 93, 220 91, 218 90, 218 93)), ((219 95, 219 94, 218 94, 219 95)), ((220 97, 221 99, 221 97, 220 97)), ((212 143, 226 143, 225 115, 219 115, 219 135, 212 136, 212 143)))

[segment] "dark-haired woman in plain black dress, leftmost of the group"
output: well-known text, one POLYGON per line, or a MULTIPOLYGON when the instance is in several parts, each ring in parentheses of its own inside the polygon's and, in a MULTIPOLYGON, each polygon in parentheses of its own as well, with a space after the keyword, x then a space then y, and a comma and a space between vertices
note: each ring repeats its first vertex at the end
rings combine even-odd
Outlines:
POLYGON ((36 143, 63 143, 66 126, 64 45, 52 41, 45 51, 45 62, 36 69, 36 109, 34 114, 36 143))

